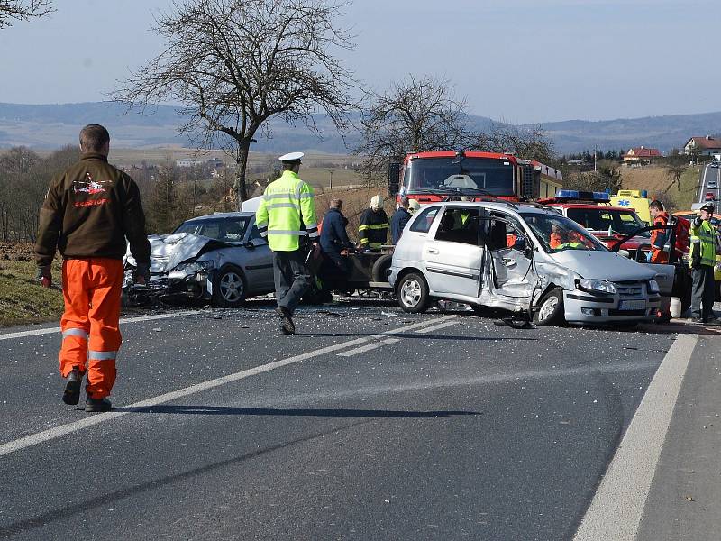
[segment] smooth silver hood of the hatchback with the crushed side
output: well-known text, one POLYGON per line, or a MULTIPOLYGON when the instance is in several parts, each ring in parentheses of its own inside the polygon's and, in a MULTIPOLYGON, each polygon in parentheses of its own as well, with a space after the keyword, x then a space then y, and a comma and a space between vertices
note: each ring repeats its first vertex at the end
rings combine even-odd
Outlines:
POLYGON ((552 253, 553 261, 574 271, 582 278, 625 281, 650 280, 656 272, 626 259, 614 252, 587 252, 584 250, 566 250, 552 253))

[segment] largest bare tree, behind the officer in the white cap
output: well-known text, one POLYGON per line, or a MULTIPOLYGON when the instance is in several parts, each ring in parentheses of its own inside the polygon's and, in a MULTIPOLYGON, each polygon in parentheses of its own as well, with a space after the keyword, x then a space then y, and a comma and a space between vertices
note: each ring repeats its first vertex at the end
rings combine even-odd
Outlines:
POLYGON ((236 162, 237 205, 246 198, 251 142, 272 117, 316 129, 324 112, 343 130, 358 83, 333 56, 353 47, 336 20, 338 0, 184 0, 161 14, 166 49, 112 96, 129 105, 175 102, 180 128, 201 148, 220 146, 236 162))

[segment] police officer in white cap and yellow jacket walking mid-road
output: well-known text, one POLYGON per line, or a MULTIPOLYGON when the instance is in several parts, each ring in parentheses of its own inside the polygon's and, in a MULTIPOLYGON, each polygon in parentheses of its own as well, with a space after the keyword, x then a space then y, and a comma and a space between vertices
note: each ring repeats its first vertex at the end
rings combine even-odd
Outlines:
POLYGON ((268 238, 273 252, 276 314, 284 335, 296 334, 293 314, 312 284, 306 244, 318 240, 313 188, 298 177, 303 156, 303 152, 290 152, 278 158, 283 174, 265 188, 255 213, 258 231, 268 238))

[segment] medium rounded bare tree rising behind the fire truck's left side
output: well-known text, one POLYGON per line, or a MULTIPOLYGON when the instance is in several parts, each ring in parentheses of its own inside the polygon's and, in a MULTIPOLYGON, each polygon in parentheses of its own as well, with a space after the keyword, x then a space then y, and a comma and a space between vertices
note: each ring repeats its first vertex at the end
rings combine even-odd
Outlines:
POLYGON ((370 177, 406 152, 465 148, 473 137, 467 121, 465 100, 454 96, 450 81, 409 75, 371 96, 354 153, 364 157, 370 177))

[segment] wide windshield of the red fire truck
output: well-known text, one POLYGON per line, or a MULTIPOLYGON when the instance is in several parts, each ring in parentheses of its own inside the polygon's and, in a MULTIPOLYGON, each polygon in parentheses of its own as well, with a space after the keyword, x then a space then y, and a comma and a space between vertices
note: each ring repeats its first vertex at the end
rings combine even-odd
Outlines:
POLYGON ((409 160, 403 180, 406 193, 433 191, 513 196, 513 164, 492 158, 416 158, 409 160))

